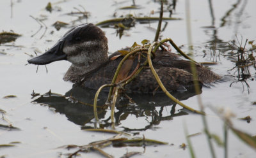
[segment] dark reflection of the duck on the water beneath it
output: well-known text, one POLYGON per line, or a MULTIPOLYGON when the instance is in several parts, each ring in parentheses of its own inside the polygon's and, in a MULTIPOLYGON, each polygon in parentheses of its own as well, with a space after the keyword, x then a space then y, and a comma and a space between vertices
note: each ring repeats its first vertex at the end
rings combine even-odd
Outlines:
MULTIPOLYGON (((33 102, 47 104, 51 108, 54 108, 56 112, 65 114, 71 122, 84 126, 83 128, 93 128, 91 125, 94 119, 93 99, 95 92, 96 90, 84 89, 74 85, 65 96, 47 92, 33 102)), ((195 96, 195 92, 193 89, 188 89, 186 92, 175 92, 173 96, 180 100, 186 100, 189 97, 195 96)), ((115 112, 116 125, 122 124, 123 120, 132 115, 136 118, 144 117, 146 120, 151 117, 151 121, 148 122, 147 126, 141 127, 140 129, 123 127, 124 131, 145 131, 153 125, 159 124, 161 120, 172 120, 173 117, 188 115, 185 111, 175 111, 176 104, 165 94, 155 94, 154 96, 152 94, 129 94, 129 97, 132 98, 134 103, 131 103, 124 96, 120 96, 118 103, 116 103, 116 109, 118 110, 115 112), (161 106, 159 111, 156 110, 157 106, 161 106), (163 116, 164 106, 172 106, 170 115, 163 116)), ((110 115, 106 116, 107 107, 105 101, 107 98, 108 92, 100 92, 99 101, 97 102, 97 112, 99 119, 102 120, 100 122, 101 127, 111 126, 110 115)))

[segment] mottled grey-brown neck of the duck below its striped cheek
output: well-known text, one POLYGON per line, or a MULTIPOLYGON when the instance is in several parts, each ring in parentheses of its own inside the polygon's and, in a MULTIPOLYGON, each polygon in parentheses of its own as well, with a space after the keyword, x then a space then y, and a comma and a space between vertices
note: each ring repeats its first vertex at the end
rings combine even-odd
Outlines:
POLYGON ((63 80, 80 82, 84 75, 99 68, 99 66, 108 61, 108 46, 100 45, 98 48, 83 49, 79 54, 68 56, 67 60, 72 62, 72 65, 63 77, 63 80))

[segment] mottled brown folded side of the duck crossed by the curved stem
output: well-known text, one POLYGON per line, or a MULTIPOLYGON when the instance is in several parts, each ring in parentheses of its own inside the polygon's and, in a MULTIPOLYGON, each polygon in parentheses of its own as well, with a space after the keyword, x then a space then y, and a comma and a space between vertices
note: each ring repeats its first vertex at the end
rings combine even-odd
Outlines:
MULTIPOLYGON (((159 68, 156 69, 156 73, 168 91, 186 91, 194 89, 193 75, 188 71, 177 68, 159 68)), ((202 87, 202 83, 198 83, 200 83, 200 87, 202 87)), ((129 93, 162 92, 150 69, 144 69, 129 85, 126 85, 125 89, 129 93)))

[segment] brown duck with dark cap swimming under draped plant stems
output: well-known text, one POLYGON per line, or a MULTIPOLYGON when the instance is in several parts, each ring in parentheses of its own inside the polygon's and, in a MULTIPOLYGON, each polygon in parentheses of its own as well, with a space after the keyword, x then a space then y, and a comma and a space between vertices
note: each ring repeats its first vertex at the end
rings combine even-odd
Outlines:
MULTIPOLYGON (((136 56, 131 61, 138 62, 138 55, 136 56)), ((71 66, 63 80, 97 90, 100 86, 112 82, 116 68, 123 58, 124 55, 118 51, 108 55, 108 38, 99 27, 93 24, 80 24, 67 31, 44 54, 29 59, 28 63, 45 65, 61 60, 69 61, 71 66)), ((136 68, 137 62, 127 62, 126 65, 131 67, 131 69, 125 70, 128 72, 127 75, 136 68)), ((182 59, 168 50, 159 49, 156 51, 152 63, 168 91, 182 92, 193 89, 194 79, 190 61, 182 59)), ((216 82, 221 78, 220 75, 199 64, 196 64, 196 71, 200 86, 216 82)), ((162 92, 148 66, 145 66, 136 78, 125 85, 124 91, 141 94, 162 92)))

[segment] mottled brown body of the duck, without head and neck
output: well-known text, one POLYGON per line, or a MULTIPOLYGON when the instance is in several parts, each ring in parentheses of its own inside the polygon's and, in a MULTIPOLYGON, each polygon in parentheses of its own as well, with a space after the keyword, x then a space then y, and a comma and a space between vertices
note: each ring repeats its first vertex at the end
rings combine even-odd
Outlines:
MULTIPOLYGON (((83 86, 90 89, 99 89, 101 85, 111 83, 116 68, 123 58, 122 56, 116 57, 117 55, 120 54, 116 52, 109 56, 108 62, 103 64, 99 69, 86 75, 83 81, 83 86)), ((129 74, 136 68, 137 62, 138 59, 134 59, 131 69, 129 69, 129 74)), ((168 91, 186 90, 193 87, 193 75, 191 73, 189 61, 181 59, 179 55, 159 50, 156 52, 156 57, 152 62, 157 75, 159 75, 159 78, 168 91)), ((220 78, 220 76, 203 66, 196 66, 196 69, 198 71, 199 83, 210 83, 220 78)), ((125 85, 125 92, 152 93, 161 92, 161 89, 150 68, 144 68, 131 83, 125 85)))

